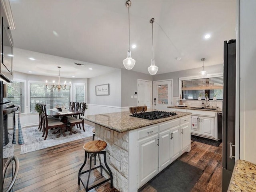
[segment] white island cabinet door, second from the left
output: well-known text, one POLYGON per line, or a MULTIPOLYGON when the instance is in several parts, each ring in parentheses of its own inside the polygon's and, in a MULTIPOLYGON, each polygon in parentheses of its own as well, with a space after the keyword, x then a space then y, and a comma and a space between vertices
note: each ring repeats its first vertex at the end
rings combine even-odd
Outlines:
POLYGON ((159 171, 170 164, 170 128, 159 133, 159 171))

